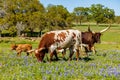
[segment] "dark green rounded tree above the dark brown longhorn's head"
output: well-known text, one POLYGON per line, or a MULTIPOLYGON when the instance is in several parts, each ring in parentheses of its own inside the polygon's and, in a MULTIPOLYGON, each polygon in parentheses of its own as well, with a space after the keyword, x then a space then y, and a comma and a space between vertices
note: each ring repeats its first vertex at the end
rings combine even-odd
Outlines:
POLYGON ((97 24, 112 21, 115 17, 114 10, 104 7, 101 4, 93 4, 90 7, 90 12, 97 24))

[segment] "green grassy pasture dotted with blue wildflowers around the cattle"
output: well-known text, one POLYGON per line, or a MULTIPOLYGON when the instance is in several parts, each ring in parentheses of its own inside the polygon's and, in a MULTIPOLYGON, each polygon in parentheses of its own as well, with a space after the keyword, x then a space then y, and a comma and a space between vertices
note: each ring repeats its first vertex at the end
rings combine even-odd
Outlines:
MULTIPOLYGON (((100 31, 105 25, 91 25, 91 29, 100 31)), ((87 31, 87 25, 73 27, 87 31)), ((97 55, 89 53, 89 58, 82 57, 79 62, 68 62, 58 56, 59 61, 49 63, 46 54, 45 63, 37 62, 34 55, 20 57, 10 50, 13 43, 30 43, 37 48, 39 38, 29 41, 21 38, 0 38, 0 80, 119 80, 120 79, 120 25, 112 27, 101 37, 101 44, 95 44, 97 55)), ((66 54, 68 59, 69 54, 66 54)))

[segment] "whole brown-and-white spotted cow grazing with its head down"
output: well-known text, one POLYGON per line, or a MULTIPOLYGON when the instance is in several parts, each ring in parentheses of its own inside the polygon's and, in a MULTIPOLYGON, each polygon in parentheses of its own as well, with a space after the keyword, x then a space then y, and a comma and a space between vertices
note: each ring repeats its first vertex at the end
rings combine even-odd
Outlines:
POLYGON ((53 55, 57 58, 57 49, 69 48, 71 60, 74 51, 76 51, 76 57, 79 57, 79 45, 81 44, 81 32, 78 30, 58 30, 45 33, 40 40, 38 49, 34 50, 35 56, 38 61, 43 61, 45 53, 50 53, 50 61, 53 55))

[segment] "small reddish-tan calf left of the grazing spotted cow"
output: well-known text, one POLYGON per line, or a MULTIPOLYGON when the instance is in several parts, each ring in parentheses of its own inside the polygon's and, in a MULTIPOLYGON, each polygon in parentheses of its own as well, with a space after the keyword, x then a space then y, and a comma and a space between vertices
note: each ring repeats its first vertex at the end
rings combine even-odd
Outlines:
POLYGON ((30 50, 32 50, 31 44, 12 44, 11 50, 17 51, 17 56, 21 55, 21 52, 26 52, 27 56, 29 55, 30 50))

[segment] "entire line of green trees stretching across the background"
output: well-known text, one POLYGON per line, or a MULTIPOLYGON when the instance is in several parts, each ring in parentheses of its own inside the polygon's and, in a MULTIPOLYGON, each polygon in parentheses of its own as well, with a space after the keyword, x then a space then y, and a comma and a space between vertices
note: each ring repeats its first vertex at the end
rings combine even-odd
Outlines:
POLYGON ((101 4, 76 7, 69 12, 63 5, 49 4, 46 8, 39 0, 0 0, 0 36, 20 36, 23 32, 46 32, 66 29, 82 22, 119 23, 113 9, 101 4))

